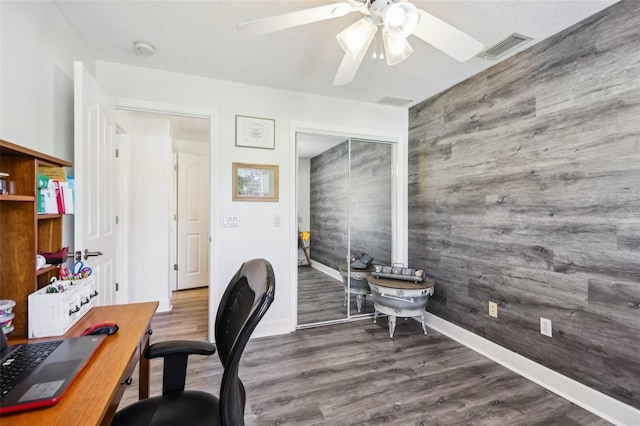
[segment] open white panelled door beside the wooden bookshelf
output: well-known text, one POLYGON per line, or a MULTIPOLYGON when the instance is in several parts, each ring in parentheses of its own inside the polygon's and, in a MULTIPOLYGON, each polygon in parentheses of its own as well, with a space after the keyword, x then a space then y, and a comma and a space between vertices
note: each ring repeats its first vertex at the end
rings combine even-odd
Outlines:
POLYGON ((96 277, 97 303, 110 305, 116 301, 115 109, 84 64, 74 66, 74 245, 96 277))

